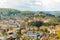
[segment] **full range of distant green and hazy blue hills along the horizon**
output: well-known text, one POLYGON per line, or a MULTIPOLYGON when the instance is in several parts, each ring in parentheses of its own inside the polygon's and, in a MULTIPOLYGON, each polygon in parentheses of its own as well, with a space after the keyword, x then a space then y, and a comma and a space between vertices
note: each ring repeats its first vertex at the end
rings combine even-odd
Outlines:
POLYGON ((34 14, 46 14, 46 16, 60 16, 59 11, 20 11, 11 8, 0 8, 0 20, 27 19, 34 14))

